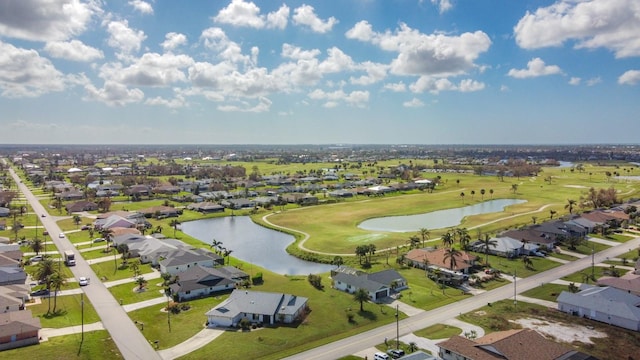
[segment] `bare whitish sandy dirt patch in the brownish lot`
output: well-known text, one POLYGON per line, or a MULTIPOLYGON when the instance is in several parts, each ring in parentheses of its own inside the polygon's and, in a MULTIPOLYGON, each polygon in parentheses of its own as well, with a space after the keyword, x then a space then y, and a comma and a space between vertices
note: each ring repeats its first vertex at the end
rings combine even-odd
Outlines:
POLYGON ((561 324, 549 320, 524 318, 511 320, 520 324, 523 328, 534 329, 537 332, 565 343, 579 341, 584 344, 593 344, 591 338, 606 338, 607 334, 581 325, 561 324))

